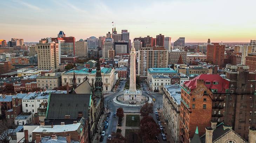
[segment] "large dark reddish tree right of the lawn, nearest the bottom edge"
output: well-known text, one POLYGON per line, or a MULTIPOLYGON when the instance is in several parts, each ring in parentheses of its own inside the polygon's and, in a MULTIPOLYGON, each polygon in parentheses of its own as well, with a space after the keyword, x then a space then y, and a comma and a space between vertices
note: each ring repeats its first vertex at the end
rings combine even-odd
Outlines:
POLYGON ((156 122, 150 118, 149 116, 144 116, 142 119, 144 122, 141 122, 139 134, 143 140, 154 140, 155 136, 160 134, 160 128, 156 124, 156 122))

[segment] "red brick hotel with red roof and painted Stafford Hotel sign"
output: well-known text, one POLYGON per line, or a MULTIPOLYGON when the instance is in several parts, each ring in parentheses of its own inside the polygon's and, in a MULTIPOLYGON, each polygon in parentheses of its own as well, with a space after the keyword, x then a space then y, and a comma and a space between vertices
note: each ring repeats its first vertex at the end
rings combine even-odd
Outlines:
POLYGON ((205 133, 205 128, 211 126, 211 121, 221 121, 219 118, 222 94, 228 93, 229 81, 219 75, 201 74, 190 81, 184 82, 181 90, 180 108, 180 141, 189 143, 194 136, 196 126, 199 135, 205 133))

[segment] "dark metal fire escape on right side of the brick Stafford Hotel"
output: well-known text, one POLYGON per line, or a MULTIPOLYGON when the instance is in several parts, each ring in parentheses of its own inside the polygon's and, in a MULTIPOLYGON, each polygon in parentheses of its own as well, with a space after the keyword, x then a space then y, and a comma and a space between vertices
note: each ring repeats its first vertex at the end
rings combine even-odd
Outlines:
POLYGON ((211 115, 213 122, 220 122, 220 117, 223 116, 221 109, 223 109, 222 101, 224 101, 224 98, 221 98, 222 94, 218 94, 213 98, 213 110, 214 113, 211 115))

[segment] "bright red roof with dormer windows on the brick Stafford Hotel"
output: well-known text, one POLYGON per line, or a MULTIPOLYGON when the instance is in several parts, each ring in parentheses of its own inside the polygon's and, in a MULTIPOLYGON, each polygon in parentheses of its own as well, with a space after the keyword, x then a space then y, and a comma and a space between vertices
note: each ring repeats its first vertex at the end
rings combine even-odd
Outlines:
POLYGON ((218 93, 222 92, 225 93, 226 89, 229 89, 229 81, 222 78, 220 75, 213 75, 213 74, 201 74, 190 81, 184 82, 184 85, 187 86, 190 91, 196 88, 197 80, 203 80, 204 85, 208 89, 217 89, 218 93), (211 82, 211 84, 205 84, 205 82, 211 82), (218 82, 218 84, 213 84, 213 82, 218 82))

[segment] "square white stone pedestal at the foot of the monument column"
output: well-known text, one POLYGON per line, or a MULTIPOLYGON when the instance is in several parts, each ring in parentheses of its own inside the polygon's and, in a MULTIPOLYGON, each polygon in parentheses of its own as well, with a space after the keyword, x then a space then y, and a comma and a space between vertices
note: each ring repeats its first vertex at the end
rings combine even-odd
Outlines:
POLYGON ((141 98, 141 90, 130 91, 129 89, 124 90, 124 101, 130 104, 140 104, 143 98, 141 98))

